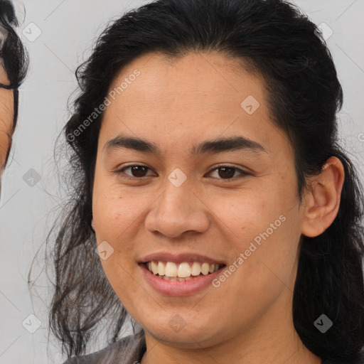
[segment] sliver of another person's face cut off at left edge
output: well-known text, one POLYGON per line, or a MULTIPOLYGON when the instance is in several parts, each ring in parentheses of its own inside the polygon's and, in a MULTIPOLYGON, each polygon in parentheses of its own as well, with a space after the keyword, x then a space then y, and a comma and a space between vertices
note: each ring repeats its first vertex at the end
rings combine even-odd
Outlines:
MULTIPOLYGON (((0 83, 9 84, 4 68, 0 65, 0 83)), ((11 132, 14 122, 14 90, 0 87, 0 176, 4 171, 6 156, 11 146, 11 132)), ((1 181, 0 181, 1 183, 1 181)))

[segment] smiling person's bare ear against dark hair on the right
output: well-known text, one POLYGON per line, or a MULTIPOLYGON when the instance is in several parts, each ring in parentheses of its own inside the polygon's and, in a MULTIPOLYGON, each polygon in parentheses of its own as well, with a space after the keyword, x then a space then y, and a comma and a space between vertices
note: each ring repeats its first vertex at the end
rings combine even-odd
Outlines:
POLYGON ((303 235, 316 237, 333 223, 338 214, 344 178, 343 164, 331 156, 321 173, 309 179, 310 188, 304 196, 303 235))

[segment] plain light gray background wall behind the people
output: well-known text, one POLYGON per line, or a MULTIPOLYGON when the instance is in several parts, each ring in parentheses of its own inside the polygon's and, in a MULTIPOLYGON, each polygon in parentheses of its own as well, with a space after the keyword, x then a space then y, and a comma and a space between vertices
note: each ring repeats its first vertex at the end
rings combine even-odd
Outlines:
MULTIPOLYGON (((24 0, 16 2, 23 22, 22 36, 31 57, 31 66, 21 87, 18 128, 14 135, 11 164, 4 173, 0 200, 0 364, 61 363, 59 347, 51 336, 47 348, 50 298, 47 282, 37 282, 41 299, 28 291, 28 271, 33 257, 43 249, 45 235, 53 221, 50 211, 60 203, 55 178, 53 147, 68 119, 68 97, 76 88, 74 71, 90 55, 95 38, 110 19, 147 1, 24 0), (26 9, 24 13, 24 8, 26 9), (31 26, 32 27, 32 26, 31 26), (28 186, 23 175, 33 168, 40 176, 28 186), (42 283, 43 282, 43 283, 42 283), (41 326, 29 333, 22 322, 33 325, 35 314, 41 326), (27 319, 28 318, 28 319, 27 319)), ((328 47, 336 63, 344 91, 340 113, 341 137, 363 171, 364 165, 364 1, 295 1, 316 23, 326 23, 333 35, 328 47), (363 133, 363 134, 362 134, 363 133)), ((363 181, 363 174, 362 181, 363 181)), ((56 213, 56 211, 55 211, 56 213)), ((41 273, 41 255, 35 272, 41 273)), ((101 345, 102 346, 102 345, 101 345)), ((94 346, 97 350, 99 346, 94 346)))

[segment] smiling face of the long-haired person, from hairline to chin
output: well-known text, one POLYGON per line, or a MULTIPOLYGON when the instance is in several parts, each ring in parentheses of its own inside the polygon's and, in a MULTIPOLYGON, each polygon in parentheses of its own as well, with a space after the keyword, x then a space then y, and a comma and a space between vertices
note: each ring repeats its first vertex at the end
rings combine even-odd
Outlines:
POLYGON ((294 155, 262 81, 233 66, 219 53, 144 55, 112 83, 100 130, 92 209, 102 266, 146 334, 181 347, 293 329, 304 220, 294 155), (149 272, 151 261, 161 274, 169 262, 168 276, 225 267, 176 282, 149 272))

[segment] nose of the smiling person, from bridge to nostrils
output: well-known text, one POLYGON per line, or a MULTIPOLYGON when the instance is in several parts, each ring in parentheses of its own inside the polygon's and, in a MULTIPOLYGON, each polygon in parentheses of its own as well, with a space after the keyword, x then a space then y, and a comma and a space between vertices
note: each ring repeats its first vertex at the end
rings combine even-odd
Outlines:
POLYGON ((186 181, 176 187, 166 181, 164 192, 151 206, 145 220, 150 232, 182 237, 186 232, 205 232, 210 226, 209 209, 186 181))

